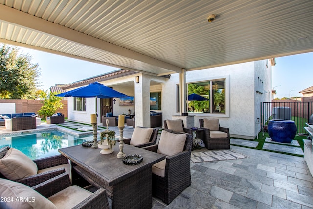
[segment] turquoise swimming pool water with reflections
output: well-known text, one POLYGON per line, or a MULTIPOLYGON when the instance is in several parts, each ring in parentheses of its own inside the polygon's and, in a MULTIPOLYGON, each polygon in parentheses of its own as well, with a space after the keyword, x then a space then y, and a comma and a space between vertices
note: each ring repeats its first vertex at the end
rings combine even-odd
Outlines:
POLYGON ((59 155, 58 149, 92 141, 93 136, 77 138, 60 131, 29 133, 19 136, 0 138, 0 148, 10 146, 22 151, 30 159, 59 155))

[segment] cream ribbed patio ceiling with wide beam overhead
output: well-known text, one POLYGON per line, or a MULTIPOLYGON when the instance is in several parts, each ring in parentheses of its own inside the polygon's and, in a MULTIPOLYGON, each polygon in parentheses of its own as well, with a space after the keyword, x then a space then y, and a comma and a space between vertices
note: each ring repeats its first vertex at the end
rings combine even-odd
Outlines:
POLYGON ((0 0, 2 43, 158 76, 312 52, 312 25, 312 0, 0 0))

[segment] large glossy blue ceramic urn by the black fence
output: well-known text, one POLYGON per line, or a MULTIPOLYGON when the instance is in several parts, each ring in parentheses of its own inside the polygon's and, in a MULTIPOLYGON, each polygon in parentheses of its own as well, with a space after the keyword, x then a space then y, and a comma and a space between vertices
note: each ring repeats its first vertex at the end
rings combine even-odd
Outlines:
POLYGON ((268 134, 270 139, 281 143, 291 143, 297 133, 293 120, 269 120, 268 134))

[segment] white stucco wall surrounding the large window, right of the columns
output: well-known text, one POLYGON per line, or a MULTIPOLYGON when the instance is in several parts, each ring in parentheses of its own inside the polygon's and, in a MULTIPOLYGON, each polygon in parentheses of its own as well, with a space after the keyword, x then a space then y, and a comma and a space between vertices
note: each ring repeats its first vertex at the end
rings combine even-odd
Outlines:
MULTIPOLYGON (((270 77, 268 75, 271 71, 265 71, 265 68, 265 61, 258 61, 187 72, 186 83, 226 78, 226 92, 229 91, 228 98, 226 93, 228 114, 227 112, 226 114, 189 113, 189 115, 195 115, 194 125, 199 127, 201 118, 219 118, 220 125, 228 127, 232 136, 254 139, 257 133, 256 118, 260 117, 260 102, 268 101, 265 98, 268 93, 263 93, 259 96, 260 98, 257 98, 255 73, 257 72, 266 81, 270 77)), ((163 120, 172 119, 173 115, 179 114, 176 111, 177 84, 179 84, 179 74, 172 74, 169 82, 164 85, 163 120)), ((265 91, 270 91, 269 84, 271 84, 271 80, 266 81, 265 91)))

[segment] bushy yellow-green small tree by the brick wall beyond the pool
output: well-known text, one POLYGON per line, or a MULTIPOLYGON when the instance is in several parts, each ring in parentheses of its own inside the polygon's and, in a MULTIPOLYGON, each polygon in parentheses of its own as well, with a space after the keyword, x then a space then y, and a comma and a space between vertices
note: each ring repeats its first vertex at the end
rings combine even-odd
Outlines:
POLYGON ((38 111, 38 114, 43 116, 43 118, 46 118, 46 116, 51 116, 57 111, 57 109, 63 107, 63 104, 61 102, 63 98, 55 96, 58 93, 50 92, 50 95, 47 95, 47 93, 45 94, 46 96, 43 101, 44 105, 38 111))

